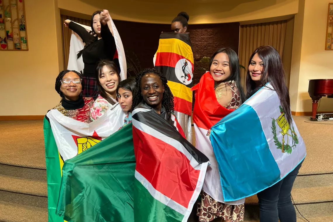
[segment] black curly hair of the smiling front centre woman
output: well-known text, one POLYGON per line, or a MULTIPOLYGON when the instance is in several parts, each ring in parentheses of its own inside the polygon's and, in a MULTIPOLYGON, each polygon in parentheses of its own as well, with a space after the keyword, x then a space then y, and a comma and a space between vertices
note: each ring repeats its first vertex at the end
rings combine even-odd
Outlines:
POLYGON ((166 84, 167 79, 166 79, 165 75, 162 74, 161 72, 157 71, 156 69, 145 69, 144 71, 139 73, 138 76, 136 77, 137 85, 135 87, 135 91, 134 91, 134 94, 133 94, 131 111, 133 111, 134 108, 136 106, 138 106, 143 101, 143 97, 141 95, 141 86, 140 86, 140 84, 141 84, 142 77, 144 75, 148 74, 148 73, 153 73, 153 74, 160 77, 160 79, 162 81, 162 84, 164 86, 162 105, 166 109, 166 113, 168 115, 170 115, 171 112, 173 112, 173 106, 174 106, 174 104, 173 104, 173 95, 171 93, 171 90, 170 90, 169 86, 166 84))

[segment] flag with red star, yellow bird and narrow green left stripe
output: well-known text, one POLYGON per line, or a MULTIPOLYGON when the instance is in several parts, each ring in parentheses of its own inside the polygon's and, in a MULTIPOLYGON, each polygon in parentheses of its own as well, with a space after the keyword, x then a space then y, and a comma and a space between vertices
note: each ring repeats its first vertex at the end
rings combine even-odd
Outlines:
POLYGON ((64 116, 58 110, 49 111, 44 118, 44 140, 48 186, 49 222, 60 222, 56 216, 64 161, 84 153, 124 124, 125 113, 117 103, 92 123, 64 116))

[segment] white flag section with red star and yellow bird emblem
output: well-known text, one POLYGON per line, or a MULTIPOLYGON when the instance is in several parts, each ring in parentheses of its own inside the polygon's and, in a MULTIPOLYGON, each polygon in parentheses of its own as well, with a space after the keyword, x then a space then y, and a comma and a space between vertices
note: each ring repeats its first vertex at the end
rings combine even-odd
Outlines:
POLYGON ((119 103, 107 110, 97 120, 86 123, 64 116, 58 110, 50 110, 52 133, 63 161, 73 158, 102 141, 124 125, 125 112, 119 103))

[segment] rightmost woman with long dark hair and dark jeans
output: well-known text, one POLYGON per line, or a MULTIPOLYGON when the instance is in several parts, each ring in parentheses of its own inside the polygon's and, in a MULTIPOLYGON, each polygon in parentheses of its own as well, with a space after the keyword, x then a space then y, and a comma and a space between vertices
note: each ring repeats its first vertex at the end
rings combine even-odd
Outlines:
MULTIPOLYGON (((246 76, 247 97, 251 97, 267 83, 279 96, 285 118, 292 124, 290 98, 285 84, 283 65, 279 53, 271 46, 260 46, 251 55, 246 76)), ((268 87, 267 87, 268 88, 268 87)), ((295 208, 291 202, 291 189, 302 162, 287 176, 271 187, 257 193, 260 222, 296 222, 295 208)))

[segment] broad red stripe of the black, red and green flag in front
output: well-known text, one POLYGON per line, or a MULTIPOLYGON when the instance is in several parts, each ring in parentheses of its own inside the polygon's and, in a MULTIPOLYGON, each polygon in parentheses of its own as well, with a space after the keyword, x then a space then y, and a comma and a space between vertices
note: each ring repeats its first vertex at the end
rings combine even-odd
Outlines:
POLYGON ((136 170, 157 191, 188 208, 200 170, 195 170, 176 148, 134 125, 133 142, 136 170))

